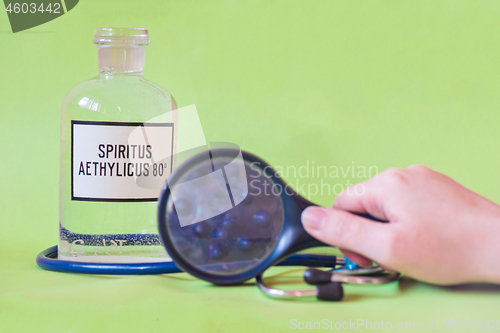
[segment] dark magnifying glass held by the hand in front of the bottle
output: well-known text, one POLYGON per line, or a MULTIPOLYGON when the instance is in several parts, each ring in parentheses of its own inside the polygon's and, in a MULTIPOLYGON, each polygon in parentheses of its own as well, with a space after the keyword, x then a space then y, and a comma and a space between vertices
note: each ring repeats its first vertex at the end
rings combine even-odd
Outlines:
POLYGON ((158 201, 158 228, 182 270, 217 285, 233 285, 293 253, 328 246, 302 227, 300 215, 311 205, 257 156, 212 149, 170 176, 158 201))

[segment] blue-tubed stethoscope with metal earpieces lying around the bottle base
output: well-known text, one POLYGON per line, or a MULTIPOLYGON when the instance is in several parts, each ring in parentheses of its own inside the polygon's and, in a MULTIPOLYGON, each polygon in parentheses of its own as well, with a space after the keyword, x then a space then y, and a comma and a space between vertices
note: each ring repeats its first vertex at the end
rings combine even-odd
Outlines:
MULTIPOLYGON (((276 299, 294 299, 316 297, 319 300, 339 301, 344 296, 342 284, 378 285, 397 281, 401 274, 387 272, 379 266, 363 268, 351 263, 347 268, 347 258, 336 258, 330 255, 294 254, 276 266, 330 267, 335 266, 332 260, 341 268, 324 271, 309 268, 304 272, 304 281, 316 286, 308 290, 284 290, 271 288, 264 282, 263 274, 255 277, 256 285, 265 295, 276 299)), ((150 263, 86 263, 57 259, 57 246, 52 246, 38 254, 38 266, 43 269, 63 273, 89 275, 153 275, 182 273, 182 270, 172 261, 150 263)))

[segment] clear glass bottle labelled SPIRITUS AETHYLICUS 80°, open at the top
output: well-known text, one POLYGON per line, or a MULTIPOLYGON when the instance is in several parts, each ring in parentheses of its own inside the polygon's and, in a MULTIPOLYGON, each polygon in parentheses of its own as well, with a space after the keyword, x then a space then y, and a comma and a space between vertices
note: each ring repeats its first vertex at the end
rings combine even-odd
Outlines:
POLYGON ((175 164, 175 101, 143 78, 146 29, 99 28, 94 44, 99 74, 61 110, 59 259, 169 260, 156 201, 175 164))

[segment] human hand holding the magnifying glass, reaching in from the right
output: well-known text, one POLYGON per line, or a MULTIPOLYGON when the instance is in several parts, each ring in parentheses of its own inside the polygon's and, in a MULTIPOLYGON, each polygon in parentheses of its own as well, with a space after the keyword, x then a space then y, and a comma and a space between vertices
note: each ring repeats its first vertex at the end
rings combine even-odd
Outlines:
POLYGON ((443 285, 500 283, 500 206, 422 165, 388 169, 353 185, 333 208, 308 207, 302 223, 362 266, 373 260, 443 285))

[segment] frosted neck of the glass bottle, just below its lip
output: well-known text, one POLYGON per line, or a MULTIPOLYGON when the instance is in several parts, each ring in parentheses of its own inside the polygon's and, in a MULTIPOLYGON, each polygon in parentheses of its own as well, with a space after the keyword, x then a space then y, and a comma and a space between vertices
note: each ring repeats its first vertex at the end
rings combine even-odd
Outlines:
POLYGON ((97 45, 97 61, 101 75, 142 76, 146 45, 97 45))

